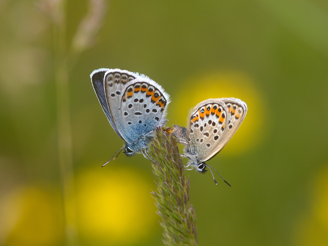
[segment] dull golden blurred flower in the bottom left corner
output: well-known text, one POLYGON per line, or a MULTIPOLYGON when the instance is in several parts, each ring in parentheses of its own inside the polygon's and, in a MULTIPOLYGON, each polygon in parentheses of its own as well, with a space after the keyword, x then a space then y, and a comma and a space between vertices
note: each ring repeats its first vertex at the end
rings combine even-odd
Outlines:
POLYGON ((18 187, 0 200, 0 245, 57 245, 63 240, 60 195, 18 187))

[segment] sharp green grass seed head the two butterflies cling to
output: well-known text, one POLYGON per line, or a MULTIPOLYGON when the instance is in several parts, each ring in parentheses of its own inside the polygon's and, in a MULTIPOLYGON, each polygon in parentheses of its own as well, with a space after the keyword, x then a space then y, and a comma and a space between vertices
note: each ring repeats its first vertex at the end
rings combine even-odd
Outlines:
POLYGON ((196 215, 189 203, 189 179, 184 176, 178 145, 168 131, 157 129, 153 163, 157 192, 153 191, 165 245, 198 245, 196 215))

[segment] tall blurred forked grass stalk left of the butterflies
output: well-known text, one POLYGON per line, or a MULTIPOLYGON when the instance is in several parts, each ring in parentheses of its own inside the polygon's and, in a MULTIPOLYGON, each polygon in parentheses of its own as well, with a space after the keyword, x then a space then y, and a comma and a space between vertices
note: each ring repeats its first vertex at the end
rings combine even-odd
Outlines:
POLYGON ((76 201, 74 189, 72 131, 70 113, 69 72, 79 55, 91 48, 103 26, 107 1, 90 0, 88 12, 81 20, 67 48, 66 9, 64 0, 43 0, 37 3, 39 10, 50 17, 53 23, 54 69, 57 100, 58 159, 62 187, 63 214, 67 245, 78 245, 76 228, 76 201))

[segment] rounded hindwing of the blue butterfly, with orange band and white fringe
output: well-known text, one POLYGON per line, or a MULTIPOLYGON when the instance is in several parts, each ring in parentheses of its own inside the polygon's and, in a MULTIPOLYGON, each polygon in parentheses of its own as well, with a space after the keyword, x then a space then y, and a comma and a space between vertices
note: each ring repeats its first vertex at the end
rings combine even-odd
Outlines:
POLYGON ((122 95, 121 112, 125 138, 138 141, 166 123, 169 95, 148 77, 139 77, 127 84, 122 95))

